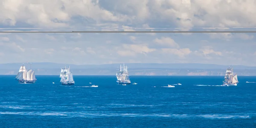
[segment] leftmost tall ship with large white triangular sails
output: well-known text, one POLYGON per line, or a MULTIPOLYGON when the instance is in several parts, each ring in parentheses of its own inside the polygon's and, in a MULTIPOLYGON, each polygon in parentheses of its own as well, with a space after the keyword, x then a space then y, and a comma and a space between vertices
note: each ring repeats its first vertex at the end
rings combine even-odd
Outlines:
POLYGON ((24 64, 20 66, 20 70, 15 77, 19 83, 24 83, 24 84, 34 84, 37 79, 35 78, 35 71, 33 71, 30 67, 30 70, 27 71, 26 67, 24 64))

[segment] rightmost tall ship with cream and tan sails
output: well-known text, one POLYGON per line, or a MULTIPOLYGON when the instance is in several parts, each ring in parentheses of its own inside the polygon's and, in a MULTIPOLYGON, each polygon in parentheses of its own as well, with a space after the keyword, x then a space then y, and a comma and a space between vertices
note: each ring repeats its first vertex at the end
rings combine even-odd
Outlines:
POLYGON ((230 67, 226 70, 224 81, 222 85, 225 86, 236 86, 239 83, 237 74, 234 76, 233 69, 230 67))

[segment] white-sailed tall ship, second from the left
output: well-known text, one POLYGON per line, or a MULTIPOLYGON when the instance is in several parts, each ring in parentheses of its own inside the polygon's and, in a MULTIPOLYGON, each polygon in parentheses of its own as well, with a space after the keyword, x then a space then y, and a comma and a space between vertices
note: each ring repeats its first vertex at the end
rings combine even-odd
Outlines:
POLYGON ((66 68, 61 68, 61 74, 60 74, 61 81, 60 83, 62 85, 74 85, 75 81, 73 79, 73 73, 70 72, 70 66, 66 68))

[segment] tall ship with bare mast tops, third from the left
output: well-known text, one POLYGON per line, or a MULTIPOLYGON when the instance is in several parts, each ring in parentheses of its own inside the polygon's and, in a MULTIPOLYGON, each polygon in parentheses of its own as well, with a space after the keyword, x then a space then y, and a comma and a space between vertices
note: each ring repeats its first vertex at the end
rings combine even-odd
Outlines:
POLYGON ((123 66, 120 64, 120 71, 116 72, 116 78, 118 84, 131 84, 127 66, 125 66, 125 64, 123 66))

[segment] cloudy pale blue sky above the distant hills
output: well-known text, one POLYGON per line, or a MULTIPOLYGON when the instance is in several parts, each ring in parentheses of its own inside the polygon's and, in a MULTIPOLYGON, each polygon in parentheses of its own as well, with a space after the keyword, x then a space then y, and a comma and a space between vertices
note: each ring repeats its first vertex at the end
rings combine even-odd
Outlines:
MULTIPOLYGON (((0 31, 231 31, 256 26, 256 0, 0 0, 0 12, 0 31)), ((256 66, 255 34, 0 33, 0 63, 256 66)))

